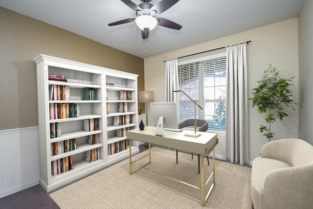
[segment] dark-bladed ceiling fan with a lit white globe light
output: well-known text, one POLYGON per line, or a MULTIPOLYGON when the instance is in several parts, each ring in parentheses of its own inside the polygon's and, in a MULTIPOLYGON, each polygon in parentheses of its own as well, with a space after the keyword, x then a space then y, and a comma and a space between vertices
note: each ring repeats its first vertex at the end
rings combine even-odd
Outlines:
POLYGON ((139 5, 135 4, 131 0, 121 0, 131 9, 136 12, 136 18, 128 18, 121 21, 116 21, 108 24, 109 26, 119 25, 124 23, 129 23, 135 21, 137 26, 141 29, 141 35, 143 39, 147 39, 149 36, 149 31, 154 29, 156 25, 163 27, 180 30, 181 25, 176 22, 167 20, 165 18, 156 18, 156 15, 168 10, 179 0, 161 0, 156 5, 149 3, 151 0, 141 0, 143 3, 139 5))

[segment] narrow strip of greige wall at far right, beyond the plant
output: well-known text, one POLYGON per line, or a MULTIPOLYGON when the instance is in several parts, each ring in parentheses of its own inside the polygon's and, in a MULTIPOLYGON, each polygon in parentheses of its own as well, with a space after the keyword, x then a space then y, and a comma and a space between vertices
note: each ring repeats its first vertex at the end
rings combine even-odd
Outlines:
POLYGON ((306 0, 299 24, 299 138, 313 145, 313 1, 306 0))

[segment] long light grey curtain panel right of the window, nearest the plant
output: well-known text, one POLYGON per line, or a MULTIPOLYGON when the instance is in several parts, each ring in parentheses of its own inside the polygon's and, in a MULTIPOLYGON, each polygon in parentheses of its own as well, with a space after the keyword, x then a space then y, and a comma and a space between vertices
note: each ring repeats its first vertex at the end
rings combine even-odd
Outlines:
POLYGON ((246 43, 227 47, 226 160, 248 163, 246 43))

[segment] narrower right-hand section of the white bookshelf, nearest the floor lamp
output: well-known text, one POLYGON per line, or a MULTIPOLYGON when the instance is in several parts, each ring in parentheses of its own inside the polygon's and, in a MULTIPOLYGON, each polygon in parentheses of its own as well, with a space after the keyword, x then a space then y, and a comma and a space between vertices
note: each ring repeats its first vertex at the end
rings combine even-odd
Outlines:
MULTIPOLYGON (((126 131, 137 128, 138 104, 137 104, 137 76, 133 74, 116 74, 113 71, 106 71, 106 83, 114 86, 106 85, 106 105, 109 107, 106 111, 106 146, 108 149, 108 161, 114 160, 114 156, 121 157, 128 155, 128 149, 124 149, 127 142, 126 131), (125 96, 120 97, 120 93, 124 92, 125 96), (124 111, 119 111, 118 106, 127 106, 124 111), (114 118, 119 118, 121 124, 114 125, 114 118), (119 132, 119 133, 117 133, 119 132), (121 135, 120 135, 121 134, 121 135), (121 146, 122 145, 122 146, 121 146), (124 146, 123 146, 124 145, 124 146)), ((132 142, 133 149, 138 148, 137 142, 132 142)))

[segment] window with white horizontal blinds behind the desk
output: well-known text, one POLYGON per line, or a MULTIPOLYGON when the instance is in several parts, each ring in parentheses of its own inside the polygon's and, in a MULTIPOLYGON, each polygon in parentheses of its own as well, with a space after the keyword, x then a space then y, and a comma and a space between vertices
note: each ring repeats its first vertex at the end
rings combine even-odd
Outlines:
MULTIPOLYGON (((196 118, 208 122, 208 129, 225 131, 226 117, 226 57, 219 54, 203 61, 179 63, 179 90, 195 100, 196 118)), ((179 94, 180 122, 195 117, 195 104, 184 94, 179 94)))

